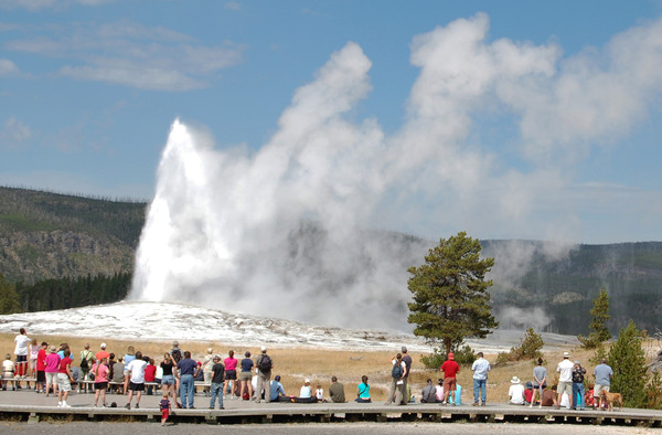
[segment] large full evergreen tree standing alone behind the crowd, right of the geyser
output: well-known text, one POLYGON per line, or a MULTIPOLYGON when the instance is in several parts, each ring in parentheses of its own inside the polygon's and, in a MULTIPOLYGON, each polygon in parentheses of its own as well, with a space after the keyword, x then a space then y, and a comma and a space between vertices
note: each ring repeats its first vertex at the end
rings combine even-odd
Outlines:
POLYGON ((407 321, 414 333, 430 342, 442 342, 448 353, 453 343, 467 337, 484 338, 499 323, 491 314, 491 280, 485 274, 494 258, 480 259, 478 240, 460 232, 429 250, 425 264, 408 269, 409 303, 407 321))

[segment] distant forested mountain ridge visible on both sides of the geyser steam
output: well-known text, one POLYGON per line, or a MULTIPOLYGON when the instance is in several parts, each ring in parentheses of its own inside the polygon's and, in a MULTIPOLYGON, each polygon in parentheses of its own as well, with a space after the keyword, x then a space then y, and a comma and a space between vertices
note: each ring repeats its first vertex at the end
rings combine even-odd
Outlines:
MULTIPOLYGON (((146 209, 145 202, 0 188, 0 273, 9 282, 34 283, 132 272, 146 209)), ((394 246, 389 252, 404 256, 403 264, 421 264, 427 248, 436 244, 401 233, 371 233, 394 246), (418 251, 419 256, 410 256, 418 251)), ((641 329, 660 325, 662 242, 568 245, 554 255, 548 254, 553 244, 546 242, 481 244, 484 256, 495 257, 491 293, 503 328, 585 333, 601 286, 609 291, 613 333, 630 318, 641 329)), ((406 306, 402 310, 406 317, 406 306)))

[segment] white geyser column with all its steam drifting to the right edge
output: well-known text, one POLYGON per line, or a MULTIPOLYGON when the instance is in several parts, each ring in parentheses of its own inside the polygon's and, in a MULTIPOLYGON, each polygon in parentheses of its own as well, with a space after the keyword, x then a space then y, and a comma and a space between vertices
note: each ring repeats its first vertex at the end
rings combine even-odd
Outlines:
MULTIPOLYGON (((393 136, 348 116, 371 91, 371 61, 352 42, 296 91, 255 153, 175 121, 131 297, 403 329, 406 268, 429 243, 382 230, 576 237, 566 171, 645 117, 662 85, 662 21, 565 60, 554 44, 488 42, 488 28, 478 14, 414 39, 420 75, 393 136), (502 168, 473 135, 490 113, 514 118, 526 170, 502 168)), ((526 265, 511 258, 508 278, 526 265)))

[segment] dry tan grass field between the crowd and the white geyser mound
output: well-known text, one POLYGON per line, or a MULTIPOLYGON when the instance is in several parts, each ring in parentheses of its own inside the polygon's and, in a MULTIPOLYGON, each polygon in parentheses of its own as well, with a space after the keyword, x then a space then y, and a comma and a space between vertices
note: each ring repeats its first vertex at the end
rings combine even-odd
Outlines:
MULTIPOLYGON (((15 335, 0 335, 0 352, 12 354, 14 349, 15 335)), ((150 356, 157 363, 162 360, 162 354, 171 348, 170 341, 126 341, 126 340, 100 340, 98 338, 72 338, 72 337, 32 337, 36 338, 41 343, 46 341, 51 344, 60 344, 67 342, 78 360, 79 351, 83 350, 86 342, 90 344, 90 350, 94 352, 99 350, 99 343, 105 341, 108 346, 108 351, 118 356, 124 356, 128 346, 134 346, 136 350, 140 350, 142 354, 150 356)), ((653 354, 656 352, 656 344, 647 344, 647 353, 653 354)), ((644 346, 644 348, 647 348, 644 346)), ((218 342, 185 342, 180 340, 180 348, 189 350, 195 360, 201 360, 206 353, 207 348, 212 348, 215 353, 220 353, 223 358, 227 356, 227 351, 233 349, 237 359, 243 358, 245 351, 250 351, 255 357, 259 353, 258 348, 243 348, 241 346, 225 346, 218 342)), ((588 359, 592 357, 592 351, 581 349, 566 349, 570 352, 572 360, 581 361, 588 373, 592 373, 592 367, 588 364, 588 359)), ((366 374, 371 385, 371 395, 373 401, 385 400, 388 391, 388 382, 391 376, 389 360, 398 352, 399 349, 393 349, 392 352, 386 351, 366 351, 363 349, 350 350, 325 350, 312 348, 269 348, 268 353, 274 359, 273 374, 280 374, 285 392, 288 395, 298 395, 299 389, 303 384, 303 380, 309 378, 312 386, 321 384, 324 391, 328 390, 331 383, 331 375, 335 374, 341 383, 345 386, 345 396, 348 400, 355 397, 356 384, 361 382, 361 376, 366 374)), ((0 353, 1 354, 1 353, 0 353)), ((428 370, 419 362, 420 353, 412 353, 414 367, 410 374, 409 384, 412 392, 418 397, 420 390, 426 384, 429 378, 433 381, 441 378, 438 371, 428 370)), ((549 373, 549 378, 554 379, 556 374, 556 364, 563 359, 563 350, 545 353, 545 367, 549 373)), ((485 358, 493 362, 495 354, 487 354, 485 358)), ((76 362, 75 362, 76 363, 76 362)), ((505 365, 495 367, 490 372, 488 379, 488 401, 489 402, 505 402, 508 401, 508 389, 510 380, 516 375, 522 381, 532 379, 533 361, 521 361, 509 363, 505 365)), ((591 375, 588 376, 592 379, 591 375)), ((472 372, 470 368, 462 368, 458 374, 458 383, 465 389, 462 401, 472 401, 472 372)))

